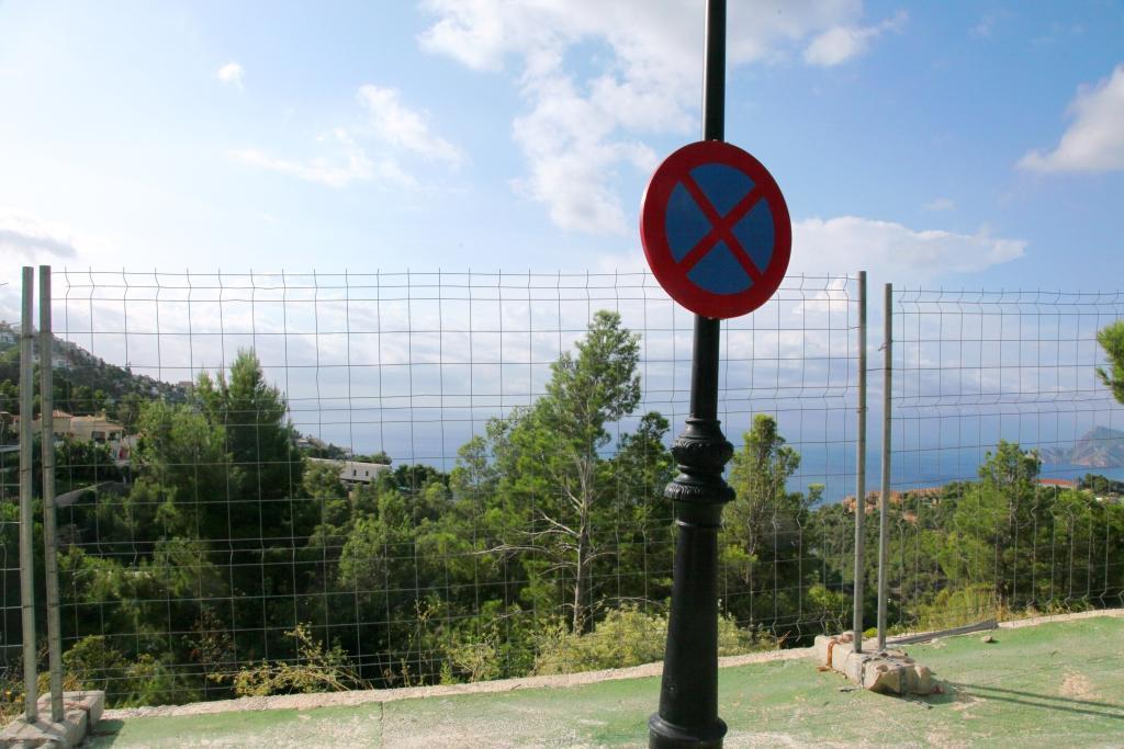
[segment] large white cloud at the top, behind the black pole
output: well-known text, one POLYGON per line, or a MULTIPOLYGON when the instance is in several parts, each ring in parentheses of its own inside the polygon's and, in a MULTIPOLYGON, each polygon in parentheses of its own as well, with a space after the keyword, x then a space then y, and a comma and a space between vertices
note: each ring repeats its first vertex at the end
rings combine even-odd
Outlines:
MULTIPOLYGON (((528 111, 513 137, 528 162, 515 182, 545 204, 560 227, 626 234, 614 189, 619 170, 652 168, 644 134, 688 134, 697 127, 703 8, 687 0, 426 0, 436 16, 419 37, 424 49, 473 70, 518 68, 528 111), (568 53, 591 44, 588 75, 568 53), (607 54, 600 54, 604 46, 607 54)), ((731 65, 772 63, 812 36, 852 28, 860 0, 755 0, 732 3, 731 65)), ((887 21, 887 24, 898 21, 887 21)), ((886 24, 874 27, 889 28, 886 24)), ((882 29, 885 30, 885 29, 882 29)), ((881 30, 878 30, 880 34, 881 30)), ((873 36, 877 36, 874 34, 873 36)), ((869 36, 864 45, 873 39, 869 36)), ((588 54, 588 53, 583 53, 588 54)))

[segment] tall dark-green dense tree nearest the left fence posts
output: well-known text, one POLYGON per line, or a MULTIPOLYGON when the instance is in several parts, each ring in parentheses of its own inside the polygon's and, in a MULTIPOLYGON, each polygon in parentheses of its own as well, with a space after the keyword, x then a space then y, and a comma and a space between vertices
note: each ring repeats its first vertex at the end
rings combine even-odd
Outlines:
POLYGON ((306 601, 308 575, 296 566, 308 561, 307 539, 323 517, 319 502, 301 496, 303 459, 284 398, 253 351, 239 351, 229 373, 200 375, 193 395, 142 407, 138 477, 120 514, 149 545, 140 548, 174 538, 221 549, 227 595, 262 602, 232 609, 230 628, 253 632, 239 638, 239 654, 283 649, 292 602, 306 601))

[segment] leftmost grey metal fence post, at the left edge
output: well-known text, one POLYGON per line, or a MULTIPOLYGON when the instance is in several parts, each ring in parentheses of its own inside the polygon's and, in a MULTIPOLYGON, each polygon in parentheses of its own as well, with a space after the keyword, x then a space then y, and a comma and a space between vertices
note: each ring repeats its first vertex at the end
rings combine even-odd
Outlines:
POLYGON ((24 309, 19 336, 19 604, 24 624, 24 718, 34 723, 39 718, 36 681, 35 642, 35 547, 31 535, 31 411, 35 407, 35 332, 31 313, 35 307, 35 268, 24 267, 24 309))

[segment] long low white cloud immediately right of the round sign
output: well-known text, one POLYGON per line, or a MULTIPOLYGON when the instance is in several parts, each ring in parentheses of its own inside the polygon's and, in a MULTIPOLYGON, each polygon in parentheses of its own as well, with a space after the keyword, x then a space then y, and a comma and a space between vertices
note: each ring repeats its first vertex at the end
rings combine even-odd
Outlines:
POLYGON ((882 277, 921 282, 976 273, 1023 256, 1026 241, 937 229, 915 230, 892 221, 855 216, 810 218, 792 225, 790 273, 877 271, 882 277))

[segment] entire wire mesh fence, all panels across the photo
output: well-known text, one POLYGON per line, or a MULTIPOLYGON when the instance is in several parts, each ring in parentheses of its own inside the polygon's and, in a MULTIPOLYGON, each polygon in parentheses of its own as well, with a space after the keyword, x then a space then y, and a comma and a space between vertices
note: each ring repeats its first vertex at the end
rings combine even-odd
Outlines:
MULTIPOLYGON (((152 704, 661 657, 694 320, 651 276, 54 280, 70 678, 152 704)), ((789 278, 724 323, 723 654, 851 622, 858 289, 789 278)), ((1124 435, 1095 374, 1117 298, 898 292, 891 311, 890 625, 1118 605, 1124 435)))

